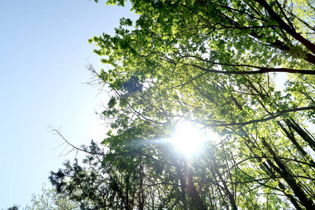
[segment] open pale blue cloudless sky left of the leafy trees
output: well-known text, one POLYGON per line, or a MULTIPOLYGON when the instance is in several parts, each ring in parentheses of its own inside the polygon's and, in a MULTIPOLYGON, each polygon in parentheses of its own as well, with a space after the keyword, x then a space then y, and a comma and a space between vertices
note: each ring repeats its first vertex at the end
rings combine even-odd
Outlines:
MULTIPOLYGON (((94 110, 106 103, 86 83, 87 60, 99 69, 88 38, 113 34, 119 19, 134 17, 129 8, 104 1, 0 1, 0 209, 25 207, 41 193, 50 171, 62 167, 59 128, 76 146, 102 141, 106 129, 94 110)), ((67 151, 67 148, 66 148, 67 151)), ((82 158, 84 155, 81 154, 82 158)))

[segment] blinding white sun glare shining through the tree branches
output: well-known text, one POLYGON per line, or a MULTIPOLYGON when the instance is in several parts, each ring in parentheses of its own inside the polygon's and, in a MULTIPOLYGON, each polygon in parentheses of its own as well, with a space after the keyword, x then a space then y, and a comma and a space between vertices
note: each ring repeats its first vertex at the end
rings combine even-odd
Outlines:
POLYGON ((171 141, 178 151, 189 156, 200 151, 208 140, 202 130, 198 130, 188 122, 183 122, 176 129, 171 141))

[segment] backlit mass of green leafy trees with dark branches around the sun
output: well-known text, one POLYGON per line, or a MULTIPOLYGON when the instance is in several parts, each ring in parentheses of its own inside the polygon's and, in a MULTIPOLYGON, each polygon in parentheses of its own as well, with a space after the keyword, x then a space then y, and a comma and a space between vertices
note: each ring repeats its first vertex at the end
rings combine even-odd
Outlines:
POLYGON ((83 209, 315 209, 314 1, 131 2, 136 22, 90 39, 113 67, 90 66, 112 92, 109 151, 52 172, 58 192, 83 209), (184 157, 165 141, 184 120, 222 141, 184 157))

